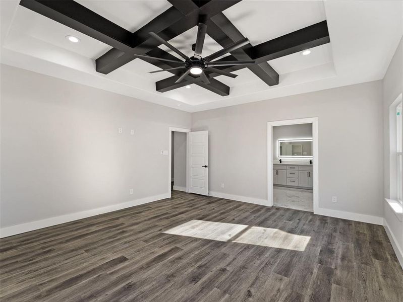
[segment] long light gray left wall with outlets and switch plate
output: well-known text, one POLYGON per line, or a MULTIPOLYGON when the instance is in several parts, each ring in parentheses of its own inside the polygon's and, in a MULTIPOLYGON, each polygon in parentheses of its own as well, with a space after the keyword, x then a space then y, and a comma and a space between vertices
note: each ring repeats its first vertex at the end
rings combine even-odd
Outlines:
POLYGON ((1 85, 2 227, 168 193, 190 113, 7 65, 1 85))

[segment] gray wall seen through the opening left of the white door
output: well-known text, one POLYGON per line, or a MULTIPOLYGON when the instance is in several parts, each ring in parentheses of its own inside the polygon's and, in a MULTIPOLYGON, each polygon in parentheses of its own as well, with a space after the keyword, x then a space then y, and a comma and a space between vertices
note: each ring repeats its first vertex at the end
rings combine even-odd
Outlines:
POLYGON ((174 133, 174 190, 186 192, 186 133, 174 133))

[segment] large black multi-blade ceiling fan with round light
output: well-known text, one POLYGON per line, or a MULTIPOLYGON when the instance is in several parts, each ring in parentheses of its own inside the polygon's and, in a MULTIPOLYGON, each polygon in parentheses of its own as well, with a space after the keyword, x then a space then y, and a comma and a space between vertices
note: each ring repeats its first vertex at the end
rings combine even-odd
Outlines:
POLYGON ((155 72, 169 71, 169 70, 174 70, 174 69, 187 69, 175 83, 182 82, 183 80, 185 80, 187 75, 190 73, 193 75, 199 75, 202 82, 204 82, 205 84, 210 84, 210 81, 208 80, 207 75, 204 72, 204 70, 210 71, 210 72, 215 72, 215 73, 222 74, 222 75, 226 75, 227 77, 236 78, 237 74, 223 71, 221 69, 214 68, 214 67, 215 66, 253 65, 255 63, 254 60, 215 61, 215 62, 212 61, 228 52, 232 52, 232 51, 248 44, 249 40, 247 38, 244 38, 238 42, 235 42, 235 43, 203 58, 201 55, 202 55, 202 50, 203 50, 204 38, 206 36, 206 31, 207 31, 207 25, 203 22, 199 22, 197 37, 196 37, 196 44, 192 45, 192 49, 195 51, 195 54, 192 57, 188 57, 182 51, 180 51, 179 49, 177 49, 174 46, 172 46, 171 44, 169 44, 167 41, 162 39, 156 33, 153 33, 153 32, 149 33, 152 37, 154 37, 156 40, 158 40, 159 42, 164 44, 170 50, 179 54, 182 58, 185 59, 184 61, 180 61, 179 59, 171 60, 171 59, 151 57, 148 55, 139 55, 139 54, 135 54, 135 56, 139 57, 139 58, 152 58, 152 59, 157 59, 157 60, 161 60, 161 61, 167 61, 167 62, 181 64, 182 66, 179 66, 179 67, 172 67, 172 68, 155 70, 155 71, 149 72, 149 73, 155 73, 155 72))

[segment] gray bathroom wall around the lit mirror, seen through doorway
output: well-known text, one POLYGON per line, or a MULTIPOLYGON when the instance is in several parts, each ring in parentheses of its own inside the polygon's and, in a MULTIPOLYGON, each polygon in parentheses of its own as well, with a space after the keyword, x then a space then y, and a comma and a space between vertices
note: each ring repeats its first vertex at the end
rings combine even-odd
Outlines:
MULTIPOLYGON (((298 124, 273 127, 273 162, 279 160, 277 157, 277 140, 278 139, 293 139, 293 138, 312 138, 312 124, 298 124)), ((310 154, 312 150, 310 150, 310 154)), ((290 159, 283 159, 290 161, 290 159)), ((300 161, 309 161, 303 159, 300 161)))

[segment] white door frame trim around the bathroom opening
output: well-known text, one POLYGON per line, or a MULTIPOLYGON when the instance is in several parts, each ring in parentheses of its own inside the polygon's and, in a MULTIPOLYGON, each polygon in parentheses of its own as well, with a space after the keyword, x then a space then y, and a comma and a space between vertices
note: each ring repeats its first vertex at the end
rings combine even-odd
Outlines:
POLYGON ((296 124, 312 124, 313 139, 313 212, 319 209, 319 144, 318 144, 318 118, 308 117, 281 121, 267 122, 267 202, 268 206, 273 205, 273 127, 296 124), (269 169, 269 167, 271 169, 269 169))

